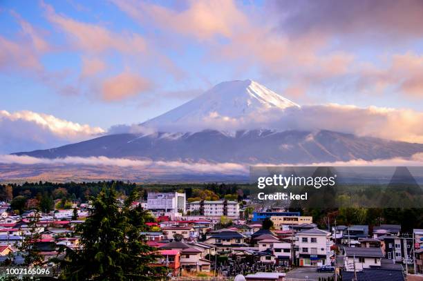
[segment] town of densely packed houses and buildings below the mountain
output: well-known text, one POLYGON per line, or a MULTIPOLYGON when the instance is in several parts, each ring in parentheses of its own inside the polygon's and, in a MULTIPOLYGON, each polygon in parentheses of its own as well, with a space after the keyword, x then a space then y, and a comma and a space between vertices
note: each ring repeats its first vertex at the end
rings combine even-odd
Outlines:
MULTIPOLYGON (((142 208, 151 215, 141 235, 159 255, 151 266, 164 267, 169 280, 423 277, 423 229, 407 233, 400 224, 370 228, 337 225, 336 220, 322 229, 301 211, 263 206, 247 198, 241 202, 234 198, 196 200, 182 191, 148 191, 146 195, 132 202, 131 208, 142 208)), ((80 238, 75 229, 90 216, 90 201, 57 199, 47 213, 36 209, 20 213, 13 210, 16 197, 7 201, 0 203, 1 264, 24 264, 23 244, 29 235, 39 235, 37 239, 31 236, 30 244, 51 267, 56 265, 52 260, 59 256, 59 248, 78 251, 80 238)))

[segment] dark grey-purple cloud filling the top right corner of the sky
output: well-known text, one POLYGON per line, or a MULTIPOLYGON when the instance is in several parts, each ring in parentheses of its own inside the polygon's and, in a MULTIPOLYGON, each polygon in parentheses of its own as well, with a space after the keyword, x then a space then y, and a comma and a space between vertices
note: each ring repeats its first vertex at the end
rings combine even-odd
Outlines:
MULTIPOLYGON (((423 3, 420 0, 359 0, 346 5, 336 0, 273 1, 270 8, 280 28, 292 37, 319 35, 410 39, 421 37, 423 3)), ((400 42, 397 42, 400 43, 400 42)))

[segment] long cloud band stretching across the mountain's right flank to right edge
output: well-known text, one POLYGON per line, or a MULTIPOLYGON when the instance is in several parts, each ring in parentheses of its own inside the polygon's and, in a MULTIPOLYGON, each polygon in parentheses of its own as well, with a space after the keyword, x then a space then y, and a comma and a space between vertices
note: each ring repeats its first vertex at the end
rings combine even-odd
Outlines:
POLYGON ((422 123, 423 113, 415 110, 328 104, 254 111, 240 117, 228 117, 214 112, 198 122, 184 120, 174 123, 170 120, 161 124, 146 122, 143 126, 171 132, 192 132, 205 128, 227 131, 258 128, 333 130, 358 136, 423 143, 422 123))

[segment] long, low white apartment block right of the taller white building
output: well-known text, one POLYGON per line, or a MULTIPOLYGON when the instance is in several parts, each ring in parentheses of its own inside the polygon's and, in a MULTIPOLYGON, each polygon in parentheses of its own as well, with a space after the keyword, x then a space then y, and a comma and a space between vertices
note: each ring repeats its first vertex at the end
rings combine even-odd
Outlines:
POLYGON ((189 211, 199 211, 199 215, 238 217, 239 204, 235 201, 217 200, 217 201, 194 201, 189 204, 189 211))

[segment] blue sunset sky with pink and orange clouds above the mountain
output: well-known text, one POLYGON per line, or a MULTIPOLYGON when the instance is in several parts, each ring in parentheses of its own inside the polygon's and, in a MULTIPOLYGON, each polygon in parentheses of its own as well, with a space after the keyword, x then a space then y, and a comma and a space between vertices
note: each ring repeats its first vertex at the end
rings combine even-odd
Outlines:
MULTIPOLYGON (((396 108, 422 124, 422 14, 418 0, 3 0, 0 130, 19 138, 41 126, 75 141, 234 79, 301 105, 396 108)), ((61 143, 48 138, 39 142, 61 143)))

